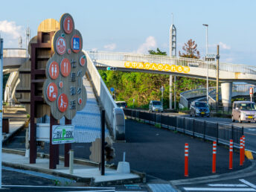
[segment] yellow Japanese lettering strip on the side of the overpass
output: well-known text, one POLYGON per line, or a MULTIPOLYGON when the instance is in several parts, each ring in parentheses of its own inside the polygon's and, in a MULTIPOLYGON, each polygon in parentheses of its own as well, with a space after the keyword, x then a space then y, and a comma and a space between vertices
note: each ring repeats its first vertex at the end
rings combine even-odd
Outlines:
POLYGON ((147 70, 155 70, 155 71, 172 71, 178 73, 186 73, 188 74, 191 71, 191 68, 188 66, 182 65, 169 65, 162 63, 144 63, 144 62, 130 62, 127 61, 124 63, 126 68, 138 68, 138 69, 147 69, 147 70))

